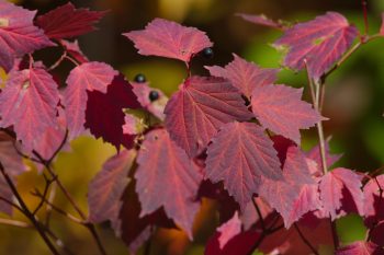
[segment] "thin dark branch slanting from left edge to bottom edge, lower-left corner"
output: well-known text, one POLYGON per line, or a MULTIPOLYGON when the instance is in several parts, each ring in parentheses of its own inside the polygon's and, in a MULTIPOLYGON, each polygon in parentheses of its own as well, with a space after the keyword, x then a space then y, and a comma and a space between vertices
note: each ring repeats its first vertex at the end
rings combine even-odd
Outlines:
POLYGON ((42 229, 41 223, 36 220, 35 216, 30 211, 30 209, 25 205, 24 200, 20 196, 15 185, 13 184, 13 181, 8 175, 8 173, 5 172, 5 170, 4 170, 4 167, 3 167, 1 162, 0 162, 0 171, 1 171, 1 174, 3 175, 5 182, 8 183, 9 187, 11 188, 13 195, 16 197, 16 199, 18 199, 18 201, 20 204, 20 207, 24 211, 24 215, 30 219, 32 224, 35 227, 35 229, 37 230, 37 232, 39 233, 39 235, 42 236, 42 239, 44 240, 46 245, 49 247, 50 252, 53 254, 55 254, 55 255, 59 255, 59 252, 56 250, 54 244, 50 242, 49 237, 46 235, 45 231, 42 229))

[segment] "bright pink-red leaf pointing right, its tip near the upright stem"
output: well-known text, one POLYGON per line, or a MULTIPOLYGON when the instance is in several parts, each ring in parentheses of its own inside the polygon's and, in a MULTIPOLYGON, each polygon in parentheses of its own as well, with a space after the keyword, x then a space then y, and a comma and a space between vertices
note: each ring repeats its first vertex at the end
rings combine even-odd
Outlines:
POLYGON ((310 104, 301 100, 302 94, 303 89, 285 85, 256 86, 251 101, 253 114, 263 127, 300 144, 300 129, 321 119, 310 104))

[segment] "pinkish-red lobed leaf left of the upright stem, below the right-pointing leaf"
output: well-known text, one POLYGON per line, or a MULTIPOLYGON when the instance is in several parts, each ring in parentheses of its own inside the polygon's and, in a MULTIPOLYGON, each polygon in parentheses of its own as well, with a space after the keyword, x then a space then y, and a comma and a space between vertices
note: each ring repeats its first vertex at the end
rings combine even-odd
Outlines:
POLYGON ((283 169, 284 181, 266 179, 260 196, 276 209, 290 228, 304 213, 318 209, 320 204, 317 185, 312 178, 304 153, 297 147, 290 147, 283 169))

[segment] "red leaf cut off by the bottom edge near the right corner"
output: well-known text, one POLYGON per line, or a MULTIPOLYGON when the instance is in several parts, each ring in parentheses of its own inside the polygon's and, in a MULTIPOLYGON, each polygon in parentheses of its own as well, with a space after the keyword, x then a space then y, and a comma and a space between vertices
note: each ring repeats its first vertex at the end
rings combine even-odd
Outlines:
POLYGON ((336 255, 383 255, 383 248, 376 244, 364 241, 357 241, 345 247, 339 248, 336 255))

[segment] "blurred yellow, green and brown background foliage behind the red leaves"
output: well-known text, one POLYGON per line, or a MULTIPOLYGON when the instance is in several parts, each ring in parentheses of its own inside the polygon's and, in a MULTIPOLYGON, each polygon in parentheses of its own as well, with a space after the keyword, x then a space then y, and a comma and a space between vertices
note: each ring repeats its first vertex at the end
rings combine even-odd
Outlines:
MULTIPOLYGON (((63 4, 66 0, 14 0, 30 9, 44 13, 63 4)), ((266 13, 274 19, 305 21, 328 10, 343 13, 360 31, 363 19, 360 0, 77 0, 77 7, 110 9, 98 32, 82 36, 80 45, 92 60, 106 61, 120 68, 129 80, 136 73, 144 73, 150 85, 171 95, 185 78, 185 67, 173 60, 143 57, 137 55, 132 43, 121 36, 131 30, 140 30, 156 16, 197 26, 207 32, 215 43, 213 60, 196 58, 193 72, 207 74, 203 66, 224 66, 231 60, 231 53, 252 60, 261 67, 281 67, 282 56, 271 43, 280 33, 256 26, 234 16, 234 13, 266 13)), ((370 33, 379 31, 383 0, 369 1, 370 33)), ((355 53, 327 81, 327 97, 324 115, 329 117, 325 124, 327 136, 332 136, 331 151, 343 153, 339 165, 368 172, 384 165, 384 39, 365 45, 355 53)), ((44 56, 44 54, 43 54, 44 56)), ((50 55, 46 55, 48 59, 50 55)), ((61 70, 65 77, 66 70, 61 70)), ((0 71, 0 81, 4 73, 0 71)), ((279 82, 293 86, 306 86, 306 76, 282 69, 279 82)), ((1 82, 0 82, 1 83, 1 82)), ((1 85, 1 84, 0 84, 1 85)), ((308 91, 305 89, 305 97, 308 91)), ((309 149, 317 142, 314 130, 305 131, 303 147, 309 149)), ((101 169, 102 163, 116 151, 109 144, 90 137, 81 137, 71 144, 71 150, 61 152, 55 169, 63 183, 81 207, 87 210, 87 188, 89 181, 101 169)), ((22 196, 30 207, 37 205, 31 195, 35 187, 43 188, 43 177, 31 164, 31 171, 19 181, 22 196)), ((75 213, 63 195, 57 192, 55 204, 61 209, 75 213)), ((158 230, 153 243, 151 254, 203 254, 204 245, 217 225, 217 211, 214 201, 204 200, 196 217, 195 241, 191 244, 185 234, 176 230, 158 230)), ((42 212, 45 213, 43 210, 42 212)), ((15 218, 25 220, 15 212, 15 218)), ((362 220, 349 216, 337 222, 342 243, 350 243, 364 237, 362 220)), ((92 239, 81 227, 54 215, 53 229, 78 254, 97 254, 92 239)), ((127 254, 124 244, 104 225, 100 232, 110 254, 127 254)), ((0 254, 48 254, 39 236, 27 229, 0 225, 0 254)), ((143 252, 143 251, 142 251, 143 252)), ((321 254, 329 254, 329 247, 323 247, 321 254)))

